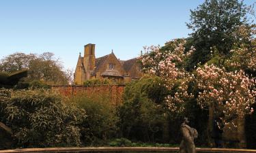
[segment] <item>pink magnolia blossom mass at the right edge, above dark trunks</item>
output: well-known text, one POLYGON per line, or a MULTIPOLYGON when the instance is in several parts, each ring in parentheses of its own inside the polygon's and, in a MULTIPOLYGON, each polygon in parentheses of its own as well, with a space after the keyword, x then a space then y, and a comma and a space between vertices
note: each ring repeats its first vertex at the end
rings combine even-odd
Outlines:
POLYGON ((224 67, 203 65, 196 70, 197 86, 201 92, 197 101, 202 108, 214 106, 215 114, 224 114, 224 122, 244 118, 253 112, 255 79, 244 71, 227 71, 224 67))

